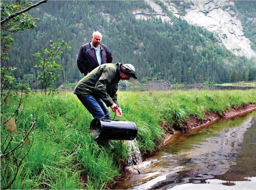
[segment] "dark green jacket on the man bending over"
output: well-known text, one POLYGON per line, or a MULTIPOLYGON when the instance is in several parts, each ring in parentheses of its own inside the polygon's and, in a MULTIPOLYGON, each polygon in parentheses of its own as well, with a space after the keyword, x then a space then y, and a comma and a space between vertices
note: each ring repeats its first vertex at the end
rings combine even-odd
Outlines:
POLYGON ((121 79, 120 65, 120 63, 109 63, 96 67, 77 83, 74 94, 93 95, 102 99, 108 107, 112 106, 114 102, 119 107, 116 93, 118 82, 121 79))

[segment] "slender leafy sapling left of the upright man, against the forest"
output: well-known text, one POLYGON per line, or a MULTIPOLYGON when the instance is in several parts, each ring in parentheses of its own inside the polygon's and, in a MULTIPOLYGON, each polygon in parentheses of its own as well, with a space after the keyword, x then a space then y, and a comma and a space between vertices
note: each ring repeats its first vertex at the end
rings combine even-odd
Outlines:
POLYGON ((40 81, 40 86, 44 94, 46 95, 47 88, 51 87, 52 82, 56 80, 59 76, 57 74, 57 69, 61 67, 60 64, 56 63, 56 59, 60 59, 60 55, 63 53, 64 49, 70 50, 71 47, 68 46, 65 41, 61 43, 53 43, 50 41, 50 49, 45 48, 44 50, 36 52, 33 54, 35 56, 37 64, 35 65, 37 71, 37 78, 40 81))

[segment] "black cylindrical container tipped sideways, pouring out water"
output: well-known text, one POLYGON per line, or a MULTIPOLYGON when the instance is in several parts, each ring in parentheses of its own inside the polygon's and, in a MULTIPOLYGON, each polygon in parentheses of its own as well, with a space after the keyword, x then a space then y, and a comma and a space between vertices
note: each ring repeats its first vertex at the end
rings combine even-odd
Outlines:
POLYGON ((137 136, 137 126, 132 121, 94 119, 90 124, 94 139, 133 140, 137 136))

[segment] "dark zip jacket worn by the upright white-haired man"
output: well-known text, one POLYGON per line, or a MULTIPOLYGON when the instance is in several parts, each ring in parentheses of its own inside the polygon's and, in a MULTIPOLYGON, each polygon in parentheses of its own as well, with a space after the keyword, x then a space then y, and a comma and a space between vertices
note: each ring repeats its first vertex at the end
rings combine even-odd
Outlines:
MULTIPOLYGON (((100 44, 100 55, 101 64, 112 63, 112 54, 108 47, 103 44, 100 44)), ((90 45, 90 43, 82 45, 77 57, 77 66, 84 76, 99 66, 95 49, 90 45)))

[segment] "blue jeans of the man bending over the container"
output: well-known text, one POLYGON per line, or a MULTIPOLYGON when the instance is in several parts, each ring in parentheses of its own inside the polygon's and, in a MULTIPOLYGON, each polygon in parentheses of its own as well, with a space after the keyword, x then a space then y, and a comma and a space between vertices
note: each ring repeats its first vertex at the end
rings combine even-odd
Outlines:
POLYGON ((78 99, 84 107, 93 115, 94 119, 104 117, 110 119, 110 112, 101 99, 96 99, 92 95, 83 96, 77 94, 78 99))

